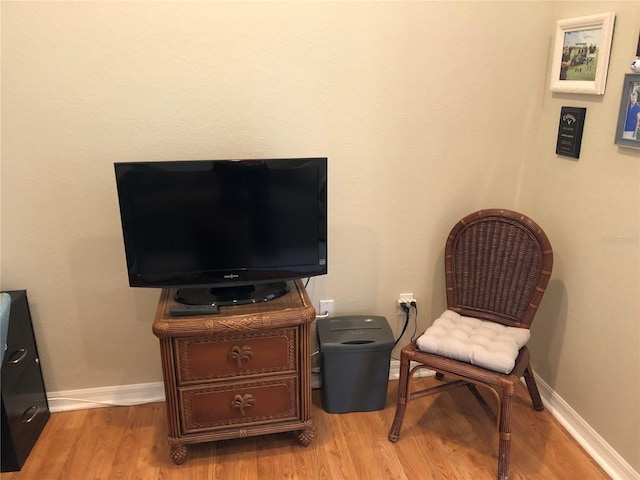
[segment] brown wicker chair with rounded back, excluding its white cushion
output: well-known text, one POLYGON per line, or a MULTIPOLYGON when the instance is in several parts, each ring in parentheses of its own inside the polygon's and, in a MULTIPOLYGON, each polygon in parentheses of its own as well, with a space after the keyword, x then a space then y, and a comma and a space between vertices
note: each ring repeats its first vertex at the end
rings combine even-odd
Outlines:
MULTIPOLYGON (((549 282, 552 265, 553 253, 547 236, 525 215, 497 209, 468 215, 453 227, 445 246, 448 310, 465 317, 529 329, 549 282)), ((533 408, 539 411, 544 408, 529 363, 529 350, 523 346, 514 352, 515 366, 505 374, 420 351, 417 341, 405 346, 389 440, 398 441, 409 400, 467 386, 478 400, 484 401, 476 386, 485 386, 498 399, 498 478, 507 479, 512 402, 521 377, 525 379, 533 408), (410 370, 411 362, 415 362, 415 366, 410 370), (411 392, 411 378, 423 368, 435 371, 438 380, 447 377, 447 381, 411 392)))

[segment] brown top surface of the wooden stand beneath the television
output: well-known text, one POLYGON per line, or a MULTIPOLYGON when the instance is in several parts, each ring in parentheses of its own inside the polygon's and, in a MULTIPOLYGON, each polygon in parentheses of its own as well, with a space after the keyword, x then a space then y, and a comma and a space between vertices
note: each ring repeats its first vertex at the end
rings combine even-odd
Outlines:
POLYGON ((219 313, 176 316, 171 309, 184 307, 174 299, 176 289, 160 294, 153 333, 159 338, 194 335, 213 336, 230 331, 280 328, 315 319, 315 309, 301 280, 289 283, 289 291, 266 302, 220 306, 219 313))

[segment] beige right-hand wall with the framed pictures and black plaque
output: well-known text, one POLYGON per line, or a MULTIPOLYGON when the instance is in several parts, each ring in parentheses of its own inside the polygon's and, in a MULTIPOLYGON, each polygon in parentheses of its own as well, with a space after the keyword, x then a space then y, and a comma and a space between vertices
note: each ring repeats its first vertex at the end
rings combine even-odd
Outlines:
POLYGON ((554 16, 616 13, 606 94, 546 92, 526 205, 554 248, 532 328, 534 369, 640 471, 640 150, 613 144, 640 2, 558 2, 554 16), (560 108, 587 107, 578 161, 553 154, 560 108))

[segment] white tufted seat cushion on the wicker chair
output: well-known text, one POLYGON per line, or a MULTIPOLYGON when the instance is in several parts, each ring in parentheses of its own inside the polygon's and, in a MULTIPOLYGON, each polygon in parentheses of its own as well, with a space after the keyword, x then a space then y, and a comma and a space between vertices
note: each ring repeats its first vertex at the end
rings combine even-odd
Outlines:
POLYGON ((423 352, 509 373, 530 337, 526 328, 507 327, 447 310, 416 343, 423 352))

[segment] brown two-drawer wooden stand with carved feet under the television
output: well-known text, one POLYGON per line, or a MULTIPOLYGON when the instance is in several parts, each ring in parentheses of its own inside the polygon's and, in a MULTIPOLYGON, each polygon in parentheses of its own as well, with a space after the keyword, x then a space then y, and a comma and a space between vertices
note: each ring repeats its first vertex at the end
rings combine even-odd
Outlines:
POLYGON ((315 435, 310 324, 315 310, 300 280, 268 302, 176 317, 163 289, 153 333, 160 339, 171 459, 187 445, 277 432, 315 435))

